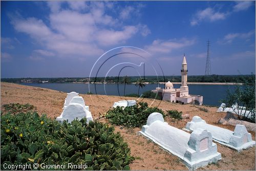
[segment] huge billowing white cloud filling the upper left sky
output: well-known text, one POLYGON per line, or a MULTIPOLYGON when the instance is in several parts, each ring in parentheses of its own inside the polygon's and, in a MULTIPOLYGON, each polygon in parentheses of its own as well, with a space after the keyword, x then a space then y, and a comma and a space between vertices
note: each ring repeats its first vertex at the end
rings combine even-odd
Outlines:
MULTIPOLYGON (((37 40, 44 46, 42 48, 54 53, 52 56, 98 56, 103 53, 104 47, 123 44, 137 33, 142 36, 150 34, 146 25, 116 25, 118 19, 105 12, 106 8, 114 8, 114 3, 79 1, 47 4, 51 9, 49 25, 35 17, 11 19, 16 31, 37 40), (69 8, 61 8, 62 3, 66 3, 69 8)), ((38 51, 37 56, 44 56, 39 53, 46 54, 38 51)), ((31 59, 34 59, 35 55, 32 56, 31 59)))

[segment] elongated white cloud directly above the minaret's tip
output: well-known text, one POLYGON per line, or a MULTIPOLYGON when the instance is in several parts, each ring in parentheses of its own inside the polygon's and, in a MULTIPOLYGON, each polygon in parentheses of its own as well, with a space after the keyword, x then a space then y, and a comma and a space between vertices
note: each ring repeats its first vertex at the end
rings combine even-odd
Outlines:
POLYGON ((195 39, 172 39, 172 40, 154 40, 151 45, 146 46, 146 51, 156 54, 156 53, 170 53, 175 49, 184 48, 195 44, 195 39))

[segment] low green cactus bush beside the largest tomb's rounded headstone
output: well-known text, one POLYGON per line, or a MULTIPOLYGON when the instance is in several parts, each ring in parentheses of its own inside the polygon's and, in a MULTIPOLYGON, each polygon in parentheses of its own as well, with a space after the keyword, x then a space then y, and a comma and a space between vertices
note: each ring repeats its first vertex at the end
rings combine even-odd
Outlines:
POLYGON ((117 106, 117 108, 109 110, 105 117, 109 119, 112 124, 123 125, 126 127, 141 127, 146 124, 147 117, 153 112, 159 112, 164 116, 161 109, 156 107, 148 108, 146 102, 140 102, 139 105, 136 104, 124 109, 117 106))

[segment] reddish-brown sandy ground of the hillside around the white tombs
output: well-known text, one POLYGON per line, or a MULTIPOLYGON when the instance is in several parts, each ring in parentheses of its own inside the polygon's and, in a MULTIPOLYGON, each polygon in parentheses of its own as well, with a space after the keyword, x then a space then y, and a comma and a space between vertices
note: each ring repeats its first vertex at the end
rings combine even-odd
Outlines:
MULTIPOLYGON (((39 114, 46 113, 50 118, 54 119, 62 112, 63 103, 66 98, 66 93, 54 91, 44 88, 36 88, 30 86, 22 86, 14 83, 1 82, 1 106, 8 103, 30 103, 36 106, 39 114)), ((87 105, 90 106, 90 111, 94 118, 99 118, 100 115, 104 115, 115 101, 119 100, 131 100, 137 98, 119 97, 119 96, 102 96, 102 95, 80 95, 83 97, 87 105)), ((183 114, 189 114, 190 119, 182 119, 176 121, 171 118, 165 118, 165 121, 169 125, 175 126, 179 129, 185 127, 186 123, 191 120, 195 115, 200 116, 207 123, 218 125, 234 130, 232 125, 218 124, 220 118, 224 118, 225 113, 218 113, 217 108, 202 106, 209 110, 209 112, 200 111, 197 106, 191 104, 177 104, 167 101, 153 100, 153 99, 139 99, 138 101, 145 101, 149 105, 158 106, 162 110, 178 110, 183 114)), ((108 122, 105 118, 98 119, 101 122, 108 122)), ((163 151, 158 145, 151 141, 146 140, 144 137, 137 135, 140 128, 126 129, 120 126, 115 126, 115 131, 120 132, 124 140, 131 147, 131 154, 136 158, 133 163, 130 164, 133 170, 187 170, 187 167, 182 161, 165 151, 163 151)), ((255 140, 255 132, 250 132, 252 139, 255 140)), ((231 148, 223 146, 219 143, 218 152, 222 154, 222 160, 217 164, 210 164, 205 166, 203 170, 255 170, 255 147, 245 149, 238 153, 231 148)))

